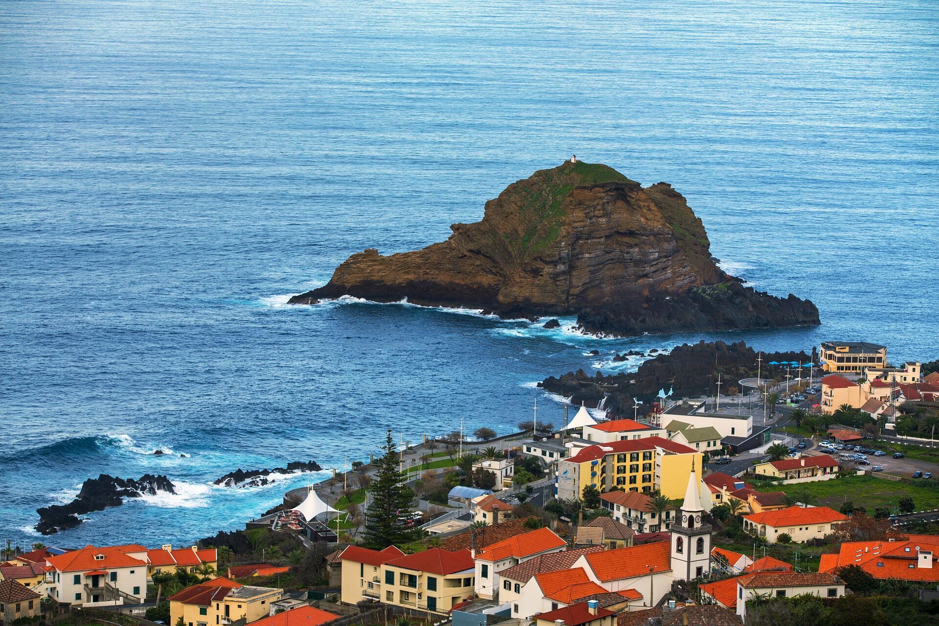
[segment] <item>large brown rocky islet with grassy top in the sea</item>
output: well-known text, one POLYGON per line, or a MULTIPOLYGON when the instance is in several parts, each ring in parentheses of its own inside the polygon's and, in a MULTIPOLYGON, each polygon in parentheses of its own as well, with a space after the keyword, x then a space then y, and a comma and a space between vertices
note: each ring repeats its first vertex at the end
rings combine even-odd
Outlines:
MULTIPOLYGON (((535 172, 487 202, 482 221, 451 228, 449 239, 423 250, 353 254, 329 283, 290 301, 350 295, 503 315, 589 313, 585 328, 611 334, 786 324, 752 306, 743 315, 716 315, 714 327, 714 313, 671 320, 676 306, 708 304, 689 305, 695 288, 727 285, 722 291, 742 298, 753 291, 716 267, 704 227, 681 194, 666 183, 643 189, 606 165, 564 162, 535 172)), ((772 309, 778 298, 765 298, 772 309)), ((808 307, 788 324, 817 324, 815 307, 795 300, 808 307)))

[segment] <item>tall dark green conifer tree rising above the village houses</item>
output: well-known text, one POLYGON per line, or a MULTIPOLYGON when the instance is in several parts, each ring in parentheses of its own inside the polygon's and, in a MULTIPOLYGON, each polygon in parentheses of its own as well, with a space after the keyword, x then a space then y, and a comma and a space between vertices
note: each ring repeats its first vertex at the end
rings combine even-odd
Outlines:
POLYGON ((398 451, 391 430, 385 445, 379 448, 384 454, 375 462, 377 472, 368 487, 372 501, 365 511, 367 523, 362 532, 365 546, 376 550, 413 542, 420 534, 416 524, 404 520, 414 492, 405 485, 405 474, 398 471, 398 451))

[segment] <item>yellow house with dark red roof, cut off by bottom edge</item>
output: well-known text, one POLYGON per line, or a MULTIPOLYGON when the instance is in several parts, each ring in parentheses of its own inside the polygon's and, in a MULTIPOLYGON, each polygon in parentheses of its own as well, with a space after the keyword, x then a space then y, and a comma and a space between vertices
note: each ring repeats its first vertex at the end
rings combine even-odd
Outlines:
POLYGON ((249 587, 227 578, 215 578, 170 596, 170 623, 176 624, 179 618, 185 626, 251 623, 269 616, 270 603, 283 595, 284 589, 249 587))

